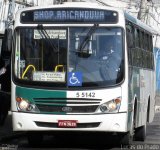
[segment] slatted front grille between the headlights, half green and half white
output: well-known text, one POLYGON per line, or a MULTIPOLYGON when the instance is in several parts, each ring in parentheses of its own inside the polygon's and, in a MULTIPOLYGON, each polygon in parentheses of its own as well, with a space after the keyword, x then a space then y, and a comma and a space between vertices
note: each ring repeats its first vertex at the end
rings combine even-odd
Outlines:
POLYGON ((94 113, 101 99, 35 98, 34 103, 44 113, 94 113))

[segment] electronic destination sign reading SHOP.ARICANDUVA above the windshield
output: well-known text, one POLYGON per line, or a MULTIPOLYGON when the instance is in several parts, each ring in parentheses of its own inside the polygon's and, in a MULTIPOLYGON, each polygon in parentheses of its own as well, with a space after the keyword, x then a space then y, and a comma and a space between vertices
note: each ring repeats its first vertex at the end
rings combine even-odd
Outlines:
POLYGON ((118 13, 100 9, 38 9, 24 11, 22 23, 117 23, 118 13))

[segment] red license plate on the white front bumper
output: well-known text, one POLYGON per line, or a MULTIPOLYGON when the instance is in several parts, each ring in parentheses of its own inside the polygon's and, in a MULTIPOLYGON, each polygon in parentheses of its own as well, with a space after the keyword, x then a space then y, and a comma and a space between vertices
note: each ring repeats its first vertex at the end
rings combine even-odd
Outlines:
POLYGON ((77 127, 77 120, 58 120, 58 127, 76 128, 77 127))

